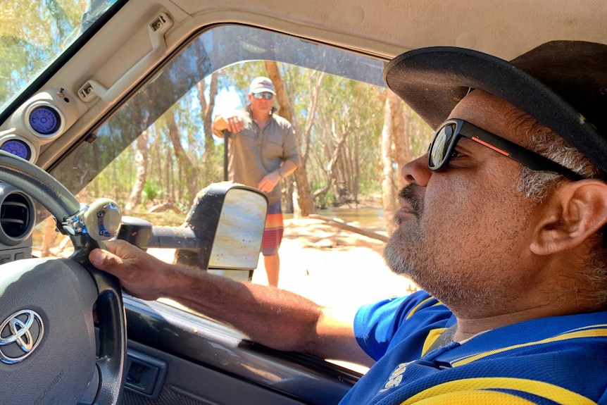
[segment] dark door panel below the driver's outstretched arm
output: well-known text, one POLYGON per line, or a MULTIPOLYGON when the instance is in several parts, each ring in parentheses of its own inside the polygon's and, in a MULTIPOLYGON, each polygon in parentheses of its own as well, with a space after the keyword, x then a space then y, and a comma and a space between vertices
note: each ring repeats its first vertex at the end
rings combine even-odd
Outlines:
MULTIPOLYGON (((337 404, 360 374, 251 342, 215 321, 125 296, 129 350, 165 363, 158 397, 132 387, 123 404, 337 404), (145 401, 147 402, 145 402, 145 401), (177 402, 173 402, 177 401, 177 402)), ((127 387, 137 369, 129 370, 127 387)), ((158 392, 158 388, 155 389, 158 392)))

